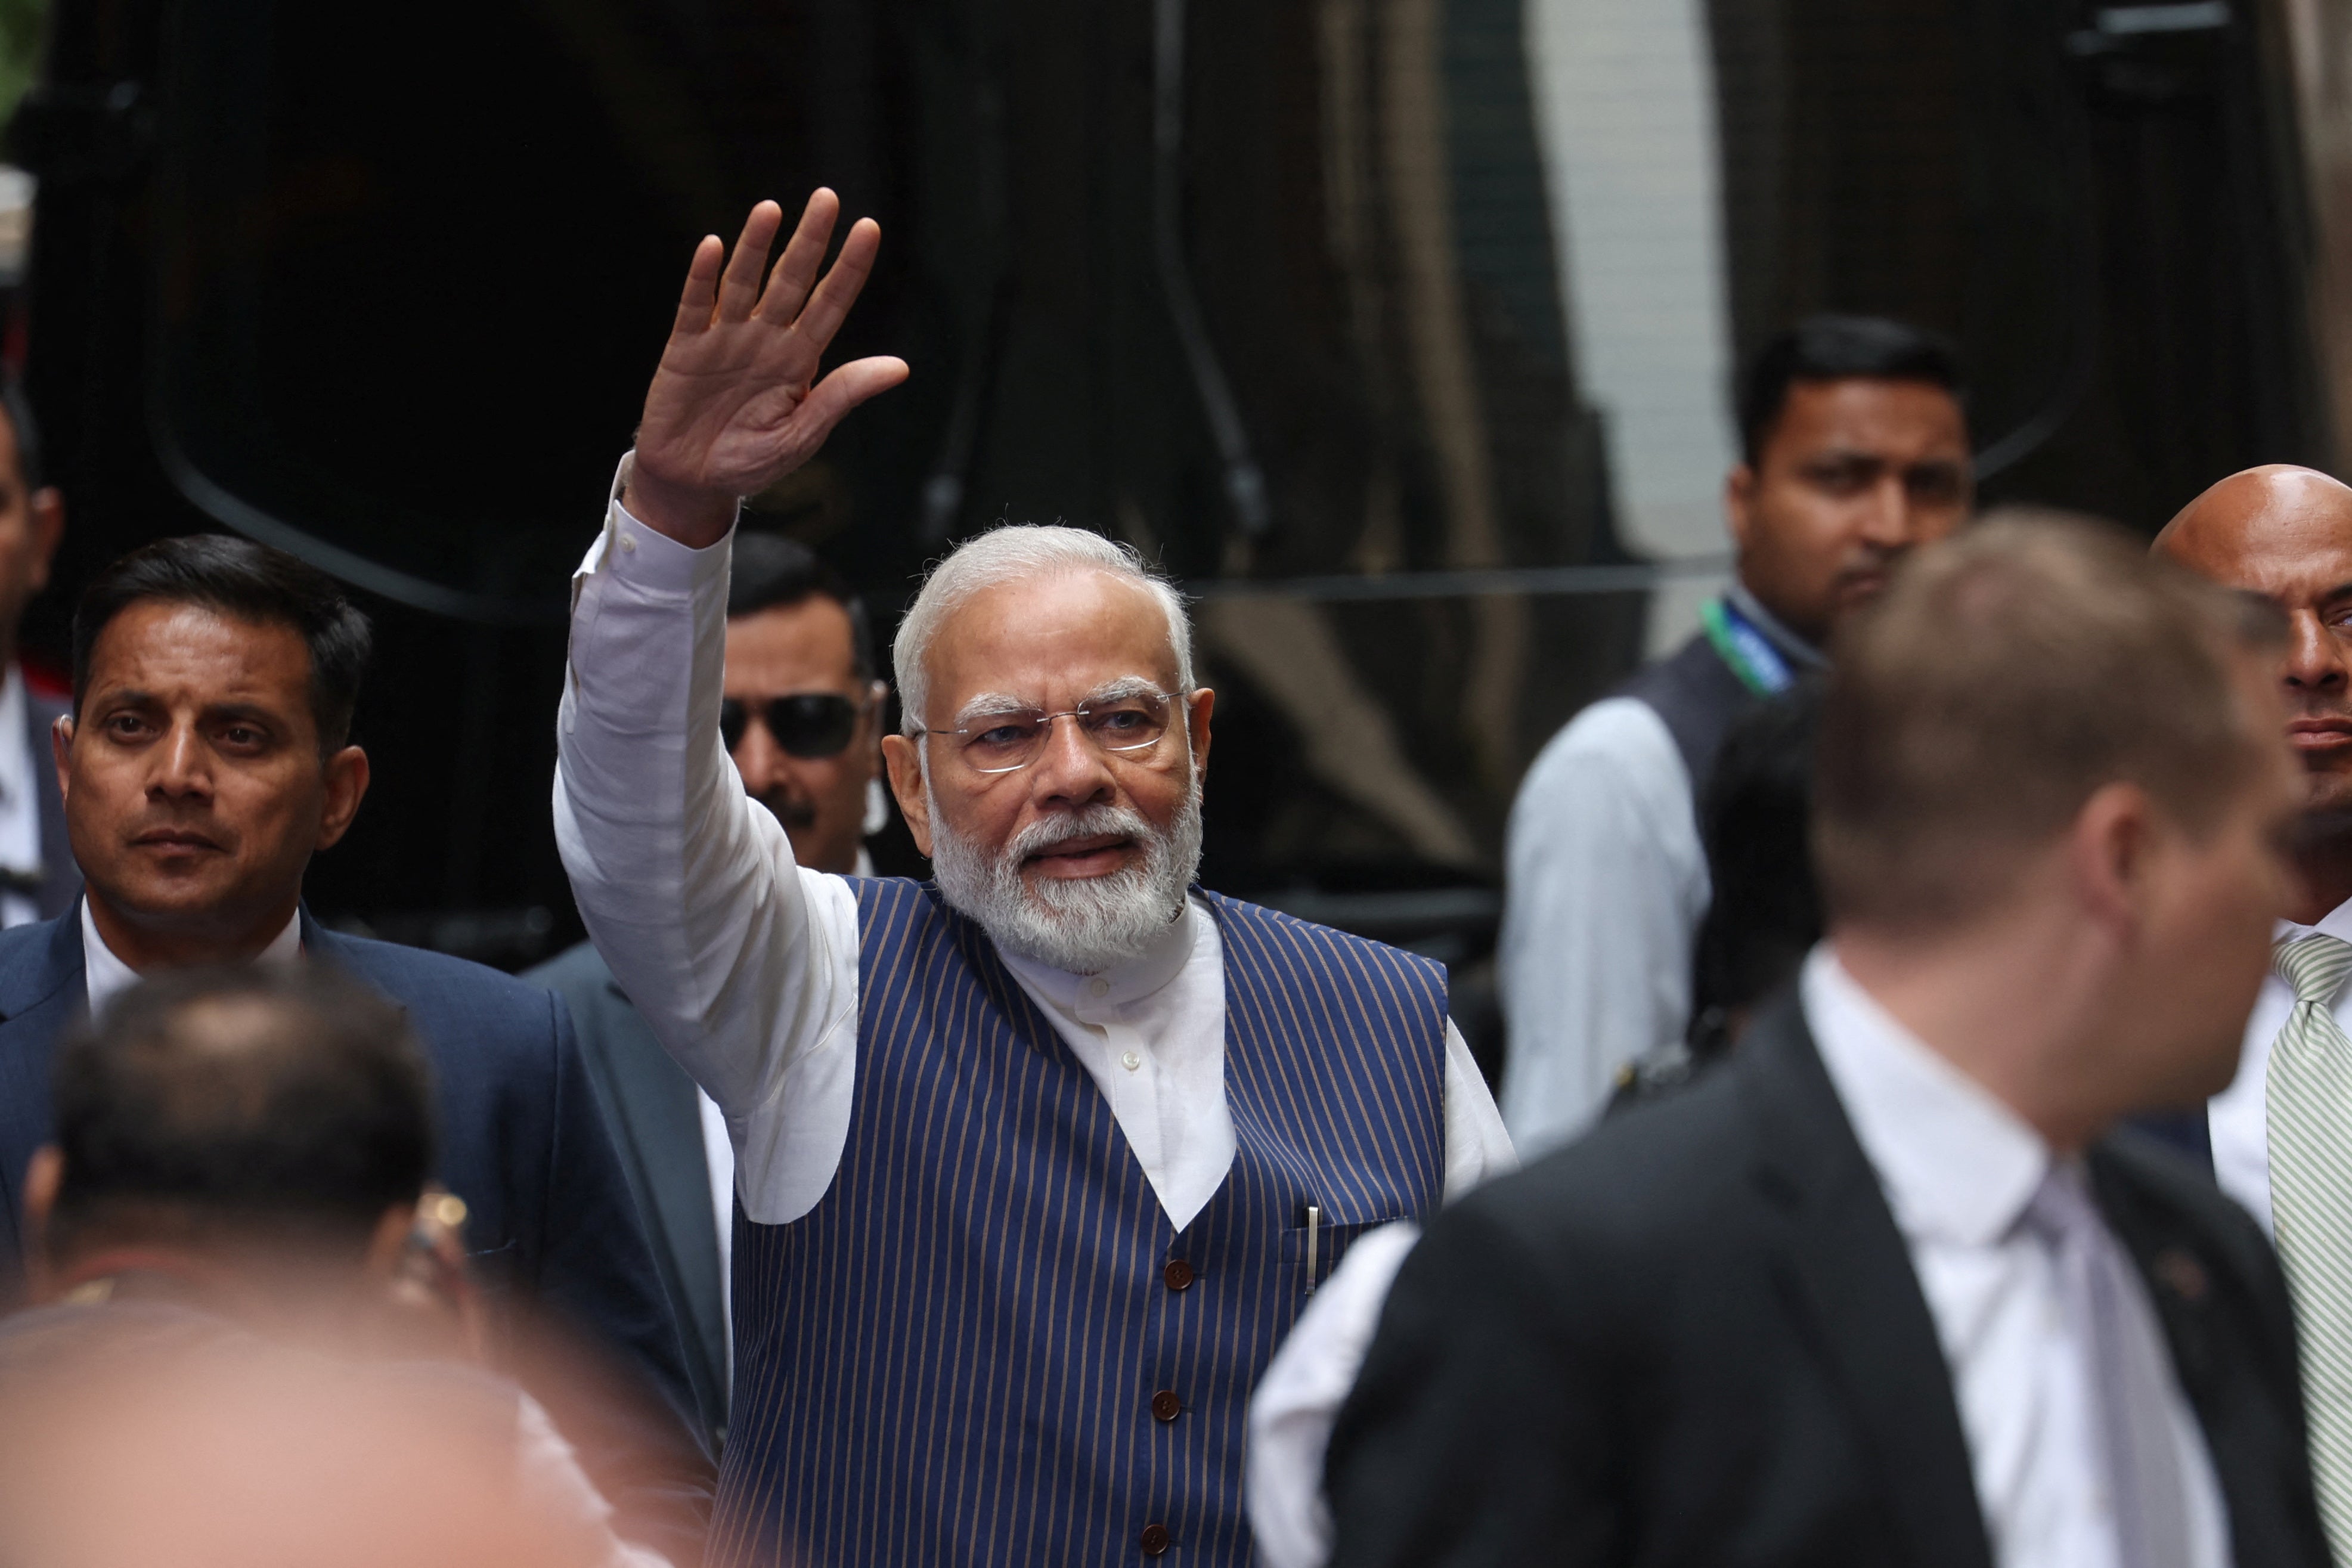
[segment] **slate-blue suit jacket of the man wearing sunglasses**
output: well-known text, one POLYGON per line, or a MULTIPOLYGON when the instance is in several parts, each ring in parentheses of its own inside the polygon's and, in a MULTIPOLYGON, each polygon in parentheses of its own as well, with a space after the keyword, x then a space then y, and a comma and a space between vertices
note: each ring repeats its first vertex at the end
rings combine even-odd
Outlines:
POLYGON ((564 999, 579 1030, 588 1081, 621 1150, 661 1284, 677 1305, 687 1378, 713 1448, 727 1432, 727 1312, 720 1293, 720 1232, 710 1206, 710 1161, 694 1079, 670 1060, 621 983, 581 943, 522 976, 564 999))

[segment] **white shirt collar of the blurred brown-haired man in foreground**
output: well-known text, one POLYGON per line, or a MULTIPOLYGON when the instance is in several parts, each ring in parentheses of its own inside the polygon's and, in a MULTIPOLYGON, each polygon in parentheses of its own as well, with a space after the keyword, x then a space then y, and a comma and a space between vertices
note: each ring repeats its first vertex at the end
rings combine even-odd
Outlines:
POLYGON ((1990 1246, 2051 1168, 2051 1147, 1983 1084, 1938 1056, 1865 992, 1828 943, 1799 980, 1820 1063, 1915 1239, 1990 1246))

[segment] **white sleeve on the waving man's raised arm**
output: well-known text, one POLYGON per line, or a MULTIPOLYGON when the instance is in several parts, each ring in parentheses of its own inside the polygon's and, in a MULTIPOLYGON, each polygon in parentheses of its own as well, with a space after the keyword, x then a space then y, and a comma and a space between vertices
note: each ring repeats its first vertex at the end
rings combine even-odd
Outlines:
POLYGON ((746 1213, 783 1225, 849 1135, 856 896, 793 863, 720 743, 731 536, 689 550, 619 489, 572 578, 555 842, 621 990, 724 1112, 746 1213))

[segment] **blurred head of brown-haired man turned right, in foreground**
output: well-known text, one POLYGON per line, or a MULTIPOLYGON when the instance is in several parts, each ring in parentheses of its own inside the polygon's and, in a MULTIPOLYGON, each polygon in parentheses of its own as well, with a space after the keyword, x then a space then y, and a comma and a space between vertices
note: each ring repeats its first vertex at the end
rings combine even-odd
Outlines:
POLYGON ((1839 630, 1837 952, 1896 1016, 1997 1018, 1969 1067, 2058 1147, 2237 1070, 2300 804, 2279 644, 2272 607, 2046 512, 1917 557, 1839 630))

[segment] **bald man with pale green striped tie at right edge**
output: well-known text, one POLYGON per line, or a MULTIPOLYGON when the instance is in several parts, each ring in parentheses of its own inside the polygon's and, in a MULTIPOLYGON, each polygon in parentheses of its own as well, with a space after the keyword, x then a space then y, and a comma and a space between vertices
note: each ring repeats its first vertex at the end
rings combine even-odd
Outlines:
POLYGON ((2300 891, 2237 1081, 2178 1131, 2279 1244, 2312 1425, 2312 1472, 2338 1561, 2352 1561, 2352 489, 2310 468, 2249 468, 2197 496, 2157 550, 2274 599, 2303 759, 2300 891))

